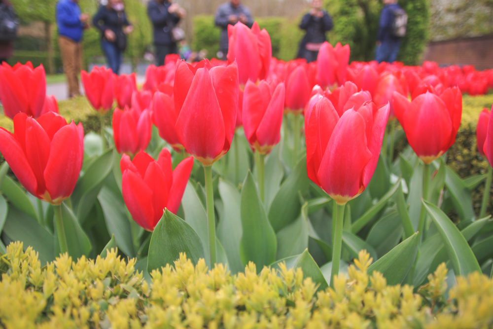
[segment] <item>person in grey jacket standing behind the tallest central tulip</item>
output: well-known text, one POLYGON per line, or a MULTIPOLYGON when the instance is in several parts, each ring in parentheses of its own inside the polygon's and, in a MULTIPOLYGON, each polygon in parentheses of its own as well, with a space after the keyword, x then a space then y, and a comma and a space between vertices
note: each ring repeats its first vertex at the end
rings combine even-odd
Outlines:
POLYGON ((226 60, 228 54, 228 25, 242 22, 247 27, 253 25, 250 10, 241 3, 241 0, 230 0, 217 7, 214 24, 221 28, 219 37, 219 52, 222 60, 226 60))

